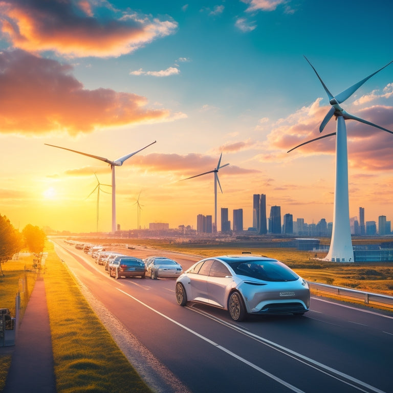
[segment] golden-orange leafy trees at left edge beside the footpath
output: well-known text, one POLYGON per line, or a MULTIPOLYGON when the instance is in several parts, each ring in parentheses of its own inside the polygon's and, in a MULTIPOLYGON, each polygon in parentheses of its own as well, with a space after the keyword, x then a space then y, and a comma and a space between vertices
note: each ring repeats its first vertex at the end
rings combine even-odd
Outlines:
POLYGON ((2 264, 22 249, 39 254, 43 251, 47 236, 42 229, 31 224, 19 232, 5 215, 0 214, 0 274, 4 276, 2 264))

